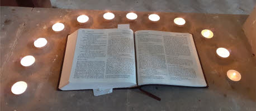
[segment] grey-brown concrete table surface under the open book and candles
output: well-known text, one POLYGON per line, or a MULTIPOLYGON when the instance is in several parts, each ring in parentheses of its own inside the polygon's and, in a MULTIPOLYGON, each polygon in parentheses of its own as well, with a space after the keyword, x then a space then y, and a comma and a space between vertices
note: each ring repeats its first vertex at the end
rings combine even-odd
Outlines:
POLYGON ((127 12, 111 11, 112 22, 103 20, 107 11, 82 9, 1 7, 1 110, 256 110, 256 60, 242 25, 248 15, 136 12, 138 19, 129 22, 127 12), (148 15, 157 13, 158 22, 149 22, 148 15), (80 14, 89 21, 78 24, 80 14), (176 17, 187 23, 177 27, 176 17), (55 33, 51 26, 65 24, 55 33), (143 29, 193 34, 202 62, 208 88, 148 86, 143 89, 162 98, 157 101, 138 89, 115 89, 113 93, 94 97, 92 90, 58 90, 67 35, 79 28, 117 28, 130 23, 135 32, 143 29), (201 36, 202 29, 211 29, 214 37, 201 36), (33 47, 39 37, 48 40, 45 48, 33 47), (230 57, 216 56, 216 49, 225 47, 230 57), (36 62, 22 67, 20 59, 32 55, 36 62), (239 82, 226 77, 229 69, 241 73, 239 82), (18 81, 28 84, 26 92, 15 95, 11 87, 18 81))

